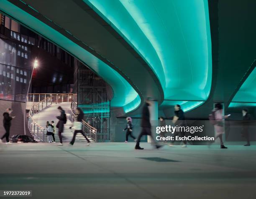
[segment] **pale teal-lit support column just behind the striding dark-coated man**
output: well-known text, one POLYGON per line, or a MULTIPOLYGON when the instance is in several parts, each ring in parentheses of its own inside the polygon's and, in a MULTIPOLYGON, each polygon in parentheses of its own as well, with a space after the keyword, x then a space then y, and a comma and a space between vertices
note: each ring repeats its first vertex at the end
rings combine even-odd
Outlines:
MULTIPOLYGON (((158 126, 158 101, 151 101, 151 106, 148 106, 150 113, 151 132, 153 138, 156 137, 156 126, 158 126)), ((148 136, 148 143, 151 143, 151 137, 148 136)))

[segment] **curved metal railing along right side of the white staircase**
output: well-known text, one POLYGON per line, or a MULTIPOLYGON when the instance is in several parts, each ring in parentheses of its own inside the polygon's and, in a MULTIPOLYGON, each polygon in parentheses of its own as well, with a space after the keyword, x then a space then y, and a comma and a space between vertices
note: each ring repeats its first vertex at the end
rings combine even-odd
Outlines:
MULTIPOLYGON (((70 110, 71 110, 71 121, 74 123, 74 120, 76 118, 75 115, 75 109, 77 108, 77 104, 72 101, 70 110)), ((84 131, 85 134, 90 136, 95 142, 97 142, 97 129, 92 127, 90 124, 88 124, 86 121, 82 120, 82 131, 84 131)))

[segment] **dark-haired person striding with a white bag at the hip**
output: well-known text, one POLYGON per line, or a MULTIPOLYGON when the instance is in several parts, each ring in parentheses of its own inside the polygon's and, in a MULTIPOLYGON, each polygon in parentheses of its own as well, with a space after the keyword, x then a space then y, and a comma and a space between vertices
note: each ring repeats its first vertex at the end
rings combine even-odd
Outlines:
MULTIPOLYGON (((74 121, 75 131, 74 131, 74 134, 73 134, 72 141, 69 144, 73 146, 74 141, 76 139, 76 135, 78 133, 80 133, 85 137, 85 139, 88 142, 87 146, 89 146, 90 145, 90 140, 86 137, 86 135, 84 134, 84 131, 82 131, 82 120, 84 118, 84 112, 82 111, 81 108, 76 108, 76 115, 77 115, 76 120, 74 121)), ((69 127, 69 128, 71 128, 71 127, 69 127)))

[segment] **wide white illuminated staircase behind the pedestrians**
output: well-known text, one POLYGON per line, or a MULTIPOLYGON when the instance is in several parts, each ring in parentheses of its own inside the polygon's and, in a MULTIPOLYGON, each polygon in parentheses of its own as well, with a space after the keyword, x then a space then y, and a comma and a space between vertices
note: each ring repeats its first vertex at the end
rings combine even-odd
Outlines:
MULTIPOLYGON (((72 129, 69 129, 69 127, 73 125, 72 121, 71 121, 71 117, 70 117, 70 114, 71 114, 70 105, 71 105, 71 102, 62 102, 62 103, 57 103, 57 104, 51 104, 51 105, 45 107, 40 112, 33 114, 33 116, 32 116, 33 121, 35 121, 38 125, 40 125, 42 128, 45 128, 45 129, 46 129, 46 121, 49 121, 49 122, 54 121, 54 124, 56 126, 58 123, 58 119, 56 118, 56 116, 60 115, 58 107, 61 106, 67 115, 67 123, 64 124, 64 131, 61 134, 64 137, 64 139, 62 141, 70 142, 72 140, 73 133, 74 133, 73 127, 72 127, 72 129)), ((39 138, 37 138, 36 129, 34 130, 30 126, 28 126, 28 127, 30 129, 31 135, 34 136, 35 140, 37 140, 37 141, 43 140, 43 131, 41 131, 38 134, 38 137, 40 138, 39 139, 39 138)), ((44 141, 47 142, 46 130, 44 131, 44 135, 45 135, 44 141)), ((91 142, 94 142, 94 140, 92 138, 90 138, 90 136, 87 136, 87 138, 91 142)), ((56 132, 55 132, 55 141, 59 142, 58 128, 56 128, 56 132)), ((83 141, 86 141, 84 136, 82 136, 82 134, 77 134, 76 142, 83 142, 83 141)))

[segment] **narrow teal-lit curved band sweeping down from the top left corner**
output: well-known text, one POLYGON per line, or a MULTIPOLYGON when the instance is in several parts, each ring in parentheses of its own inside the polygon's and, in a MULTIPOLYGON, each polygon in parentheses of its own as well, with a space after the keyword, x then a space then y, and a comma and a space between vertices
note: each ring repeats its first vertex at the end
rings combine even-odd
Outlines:
POLYGON ((133 87, 113 68, 96 58, 94 55, 84 50, 82 47, 69 40, 67 37, 41 22, 32 15, 8 2, 1 0, 0 10, 19 20, 21 23, 36 30, 52 42, 67 50, 79 60, 86 63, 99 76, 101 76, 113 88, 114 97, 111 107, 123 107, 125 113, 134 110, 141 103, 141 98, 133 87))

